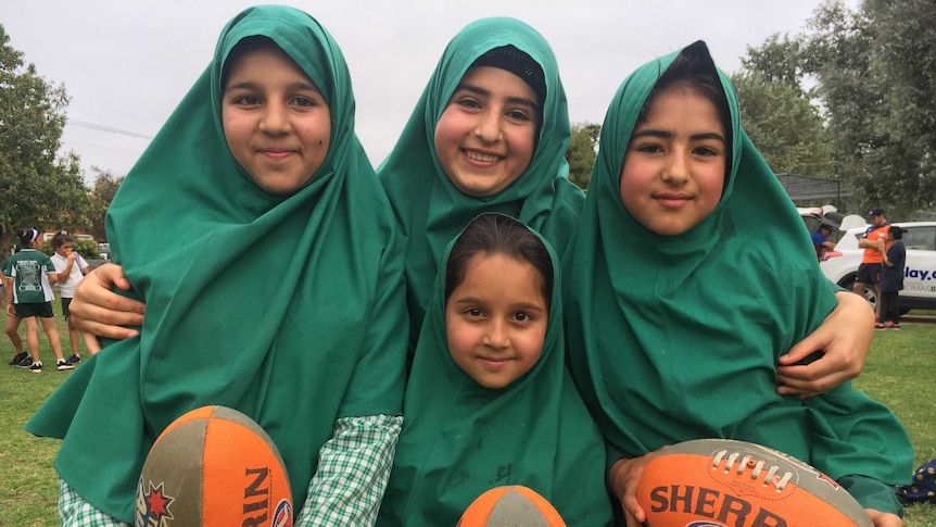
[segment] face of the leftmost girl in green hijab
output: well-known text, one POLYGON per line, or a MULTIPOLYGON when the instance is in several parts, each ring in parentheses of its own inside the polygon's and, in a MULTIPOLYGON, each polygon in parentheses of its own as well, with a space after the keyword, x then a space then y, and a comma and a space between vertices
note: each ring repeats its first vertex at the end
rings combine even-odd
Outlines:
POLYGON ((295 192, 328 153, 331 113, 315 84, 281 49, 244 52, 222 96, 225 139, 264 190, 295 192))

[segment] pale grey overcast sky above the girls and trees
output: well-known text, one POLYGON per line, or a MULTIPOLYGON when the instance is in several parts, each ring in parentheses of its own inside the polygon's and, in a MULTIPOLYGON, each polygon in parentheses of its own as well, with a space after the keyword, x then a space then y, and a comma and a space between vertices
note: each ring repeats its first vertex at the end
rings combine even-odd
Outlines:
MULTIPOLYGON (((125 175, 205 68, 242 0, 0 0, 10 45, 71 104, 63 149, 125 175)), ((514 16, 552 45, 572 123, 600 123, 644 62, 697 39, 717 64, 747 46, 796 35, 818 0, 295 0, 334 36, 351 68, 357 134, 378 165, 390 152, 448 40, 469 22, 514 16)), ((858 0, 846 0, 856 9, 858 0)), ((89 174, 90 176, 90 174, 89 174)))

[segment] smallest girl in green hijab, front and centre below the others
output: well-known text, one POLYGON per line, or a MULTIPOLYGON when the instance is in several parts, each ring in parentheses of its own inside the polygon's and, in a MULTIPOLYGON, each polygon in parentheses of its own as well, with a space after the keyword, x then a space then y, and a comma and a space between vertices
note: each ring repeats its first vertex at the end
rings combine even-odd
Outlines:
POLYGON ((455 525, 478 495, 509 485, 569 525, 609 525, 602 436, 565 366, 556 254, 492 213, 450 243, 440 268, 378 525, 455 525))

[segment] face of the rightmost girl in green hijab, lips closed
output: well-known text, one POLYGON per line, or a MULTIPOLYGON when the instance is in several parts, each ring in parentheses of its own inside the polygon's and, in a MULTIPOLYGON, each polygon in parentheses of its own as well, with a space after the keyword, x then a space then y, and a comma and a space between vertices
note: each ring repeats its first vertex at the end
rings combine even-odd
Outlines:
POLYGON ((621 201, 644 227, 673 236, 708 216, 721 200, 728 142, 712 102, 673 86, 637 122, 621 166, 621 201))

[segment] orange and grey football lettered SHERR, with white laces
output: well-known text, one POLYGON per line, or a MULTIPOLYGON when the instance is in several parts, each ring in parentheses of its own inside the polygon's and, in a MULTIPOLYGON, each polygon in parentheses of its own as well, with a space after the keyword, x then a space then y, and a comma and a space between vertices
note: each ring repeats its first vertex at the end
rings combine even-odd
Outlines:
POLYGON ((759 444, 698 439, 650 460, 637 482, 649 527, 873 527, 812 466, 759 444))

